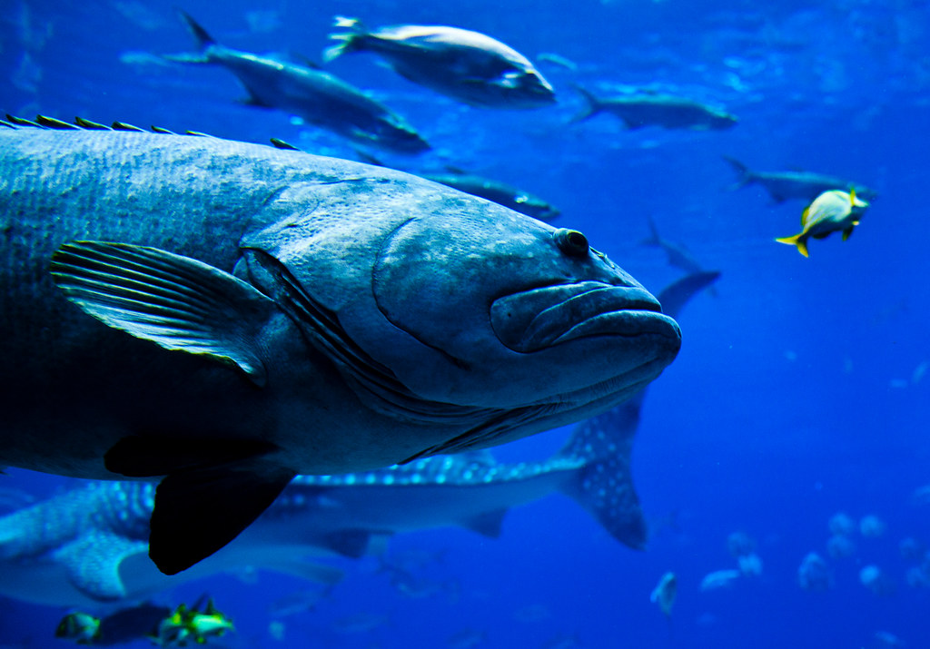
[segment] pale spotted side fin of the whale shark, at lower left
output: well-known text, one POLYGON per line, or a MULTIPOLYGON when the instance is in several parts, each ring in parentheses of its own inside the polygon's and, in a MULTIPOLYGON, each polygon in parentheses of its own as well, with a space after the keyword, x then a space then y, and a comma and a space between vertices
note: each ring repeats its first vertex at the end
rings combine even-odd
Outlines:
POLYGON ((101 602, 122 600, 126 587, 119 574, 120 563, 134 554, 145 554, 149 544, 106 532, 81 536, 55 552, 74 588, 101 602))

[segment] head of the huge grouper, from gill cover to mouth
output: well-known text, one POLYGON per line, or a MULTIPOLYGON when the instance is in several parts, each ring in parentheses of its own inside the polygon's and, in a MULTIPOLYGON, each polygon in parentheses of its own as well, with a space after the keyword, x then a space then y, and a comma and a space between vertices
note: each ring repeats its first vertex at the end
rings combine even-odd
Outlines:
POLYGON ((499 444, 612 407, 674 359, 678 325, 581 232, 417 183, 370 214, 352 192, 351 242, 312 217, 262 237, 366 404, 499 444))

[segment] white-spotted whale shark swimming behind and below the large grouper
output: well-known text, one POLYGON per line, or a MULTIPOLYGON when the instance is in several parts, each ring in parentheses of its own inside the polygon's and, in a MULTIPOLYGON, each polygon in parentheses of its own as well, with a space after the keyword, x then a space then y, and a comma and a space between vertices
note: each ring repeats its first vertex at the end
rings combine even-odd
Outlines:
MULTIPOLYGON (((718 274, 685 277, 660 298, 677 313, 718 274)), ((153 484, 88 483, 0 517, 0 594, 60 606, 135 601, 246 566, 332 585, 341 573, 315 559, 360 556, 380 535, 432 527, 498 536, 509 509, 557 492, 573 497, 619 542, 642 549, 646 527, 630 459, 644 395, 578 424, 565 447, 543 462, 503 464, 467 453, 299 476, 233 543, 173 577, 145 556, 153 484)))

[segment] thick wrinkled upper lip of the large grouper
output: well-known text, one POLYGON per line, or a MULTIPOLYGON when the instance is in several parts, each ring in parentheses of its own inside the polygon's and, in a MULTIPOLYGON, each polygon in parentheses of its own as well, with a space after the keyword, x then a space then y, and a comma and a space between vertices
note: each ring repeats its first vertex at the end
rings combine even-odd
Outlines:
POLYGON ((513 351, 539 351, 590 336, 680 336, 658 300, 638 286, 578 282, 534 288, 491 304, 491 326, 513 351))

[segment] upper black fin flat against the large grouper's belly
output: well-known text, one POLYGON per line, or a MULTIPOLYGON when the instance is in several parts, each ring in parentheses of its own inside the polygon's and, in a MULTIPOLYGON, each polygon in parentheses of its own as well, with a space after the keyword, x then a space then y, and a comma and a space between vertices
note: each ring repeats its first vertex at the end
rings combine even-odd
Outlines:
POLYGON ((127 478, 153 478, 215 464, 235 464, 266 456, 267 442, 229 439, 176 439, 129 435, 107 451, 104 466, 127 478))

